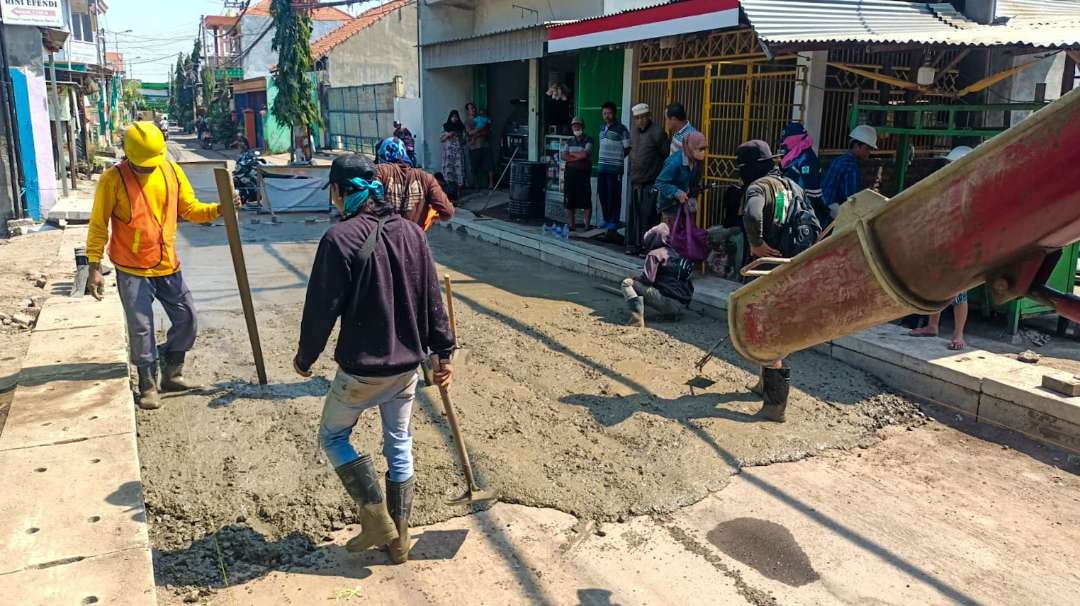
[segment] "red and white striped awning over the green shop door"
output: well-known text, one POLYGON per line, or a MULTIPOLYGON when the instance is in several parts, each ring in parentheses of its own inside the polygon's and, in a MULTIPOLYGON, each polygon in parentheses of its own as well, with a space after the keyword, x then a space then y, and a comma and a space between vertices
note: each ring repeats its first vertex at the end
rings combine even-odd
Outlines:
POLYGON ((576 51, 739 25, 739 0, 683 0, 556 25, 548 52, 576 51))

